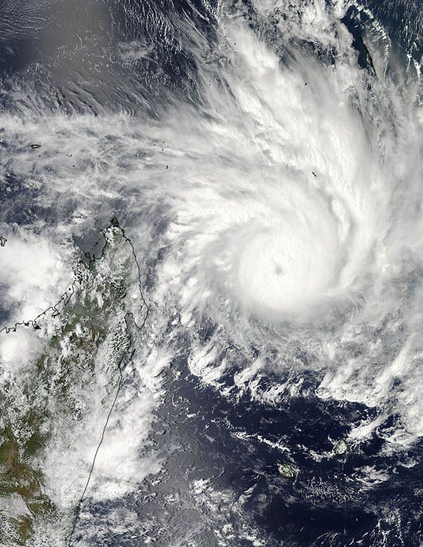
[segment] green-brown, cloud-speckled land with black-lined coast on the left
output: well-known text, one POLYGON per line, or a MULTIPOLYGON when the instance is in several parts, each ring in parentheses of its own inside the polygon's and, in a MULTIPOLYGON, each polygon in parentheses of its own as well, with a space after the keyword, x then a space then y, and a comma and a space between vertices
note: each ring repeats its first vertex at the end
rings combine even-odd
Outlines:
POLYGON ((102 256, 80 262, 69 296, 26 327, 41 355, 17 370, 0 363, 1 545, 25 545, 36 520, 56 517, 43 459, 57 438, 71 445, 94 402, 105 423, 130 351, 127 316, 140 326, 147 313, 132 245, 116 219, 102 233, 102 256))

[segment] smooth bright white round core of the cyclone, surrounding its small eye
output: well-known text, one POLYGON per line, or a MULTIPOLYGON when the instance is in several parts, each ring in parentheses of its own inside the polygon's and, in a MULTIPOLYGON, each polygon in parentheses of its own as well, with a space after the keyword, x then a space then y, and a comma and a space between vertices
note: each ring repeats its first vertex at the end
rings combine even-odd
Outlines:
POLYGON ((281 319, 316 307, 334 278, 336 245, 329 228, 295 222, 252 234, 238 259, 240 300, 281 319))

